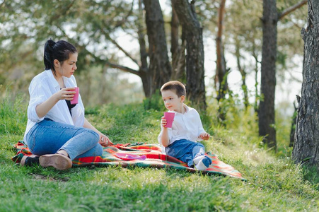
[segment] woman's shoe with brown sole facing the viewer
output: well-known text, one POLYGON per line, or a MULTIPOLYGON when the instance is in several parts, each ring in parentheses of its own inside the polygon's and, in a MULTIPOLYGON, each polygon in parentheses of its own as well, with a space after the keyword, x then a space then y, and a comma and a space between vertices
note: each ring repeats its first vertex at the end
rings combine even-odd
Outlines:
POLYGON ((42 155, 39 161, 42 167, 52 166, 57 170, 67 170, 72 167, 71 159, 60 153, 42 155))

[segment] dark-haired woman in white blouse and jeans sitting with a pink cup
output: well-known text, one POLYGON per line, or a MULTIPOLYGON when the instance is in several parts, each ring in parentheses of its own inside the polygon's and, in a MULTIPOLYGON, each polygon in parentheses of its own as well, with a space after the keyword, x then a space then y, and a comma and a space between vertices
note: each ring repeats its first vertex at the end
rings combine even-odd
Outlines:
MULTIPOLYGON (((66 170, 74 158, 102 155, 102 146, 112 144, 108 136, 84 117, 80 95, 79 103, 71 105, 77 86, 73 76, 77 57, 76 48, 69 42, 47 40, 45 71, 30 83, 28 124, 23 140, 31 153, 40 156, 42 167, 66 170)), ((27 165, 28 159, 23 158, 21 165, 27 165)))

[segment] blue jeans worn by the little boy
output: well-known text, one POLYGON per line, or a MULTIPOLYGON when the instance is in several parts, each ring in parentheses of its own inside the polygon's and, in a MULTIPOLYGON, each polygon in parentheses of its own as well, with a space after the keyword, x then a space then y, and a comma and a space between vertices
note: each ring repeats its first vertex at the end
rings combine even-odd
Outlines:
POLYGON ((194 165, 192 160, 197 156, 205 155, 205 148, 202 143, 181 139, 174 141, 166 147, 166 155, 182 160, 189 167, 192 167, 194 165))

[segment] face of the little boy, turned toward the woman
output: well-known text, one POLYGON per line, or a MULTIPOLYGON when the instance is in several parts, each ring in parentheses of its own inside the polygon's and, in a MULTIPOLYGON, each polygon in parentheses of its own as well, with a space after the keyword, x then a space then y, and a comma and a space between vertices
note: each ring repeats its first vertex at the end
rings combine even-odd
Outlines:
POLYGON ((175 90, 163 90, 162 99, 164 105, 168 110, 174 110, 176 112, 182 112, 182 104, 185 100, 185 96, 182 95, 180 98, 174 92, 175 90))

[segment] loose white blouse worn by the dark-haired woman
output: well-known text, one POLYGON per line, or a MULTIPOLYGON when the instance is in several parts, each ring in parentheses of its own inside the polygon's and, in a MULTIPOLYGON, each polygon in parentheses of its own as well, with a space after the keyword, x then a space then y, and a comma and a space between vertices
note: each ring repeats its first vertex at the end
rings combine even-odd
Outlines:
MULTIPOLYGON (((76 79, 72 75, 70 78, 63 76, 64 85, 66 88, 77 87, 76 79)), ((81 95, 79 95, 79 103, 71 109, 72 117, 69 112, 69 107, 65 100, 59 100, 52 109, 47 112, 45 117, 38 117, 35 107, 45 102, 54 93, 60 90, 59 83, 53 76, 51 70, 42 71, 37 76, 33 78, 29 86, 30 101, 28 105, 28 124, 25 129, 25 135, 37 122, 41 122, 43 119, 52 119, 54 122, 61 122, 64 124, 71 124, 74 126, 83 126, 84 124, 84 106, 81 100, 81 95)), ((25 135, 24 139, 25 140, 25 135)))

